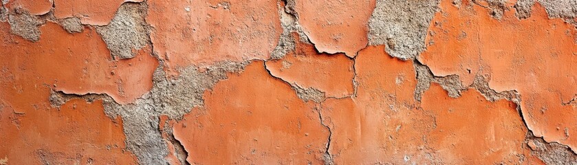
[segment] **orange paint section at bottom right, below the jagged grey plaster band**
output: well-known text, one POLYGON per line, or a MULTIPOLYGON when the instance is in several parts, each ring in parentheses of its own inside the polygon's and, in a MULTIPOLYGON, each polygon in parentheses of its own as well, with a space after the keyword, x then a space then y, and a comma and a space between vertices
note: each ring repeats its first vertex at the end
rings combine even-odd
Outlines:
POLYGON ((513 102, 489 102, 474 89, 450 98, 433 84, 421 106, 435 116, 428 144, 448 164, 517 163, 528 153, 521 148, 527 129, 513 102))

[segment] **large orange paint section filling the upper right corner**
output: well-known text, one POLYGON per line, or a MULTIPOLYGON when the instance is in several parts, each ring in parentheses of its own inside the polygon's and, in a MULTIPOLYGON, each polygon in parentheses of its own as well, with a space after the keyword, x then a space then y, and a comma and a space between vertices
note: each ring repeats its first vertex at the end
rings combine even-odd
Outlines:
POLYGON ((569 135, 577 133, 577 107, 566 103, 577 96, 577 31, 562 19, 549 19, 539 3, 522 20, 511 5, 499 21, 479 5, 464 1, 458 8, 443 1, 419 61, 437 76, 457 74, 465 85, 481 75, 496 91, 518 91, 534 135, 575 151, 577 137, 569 135))

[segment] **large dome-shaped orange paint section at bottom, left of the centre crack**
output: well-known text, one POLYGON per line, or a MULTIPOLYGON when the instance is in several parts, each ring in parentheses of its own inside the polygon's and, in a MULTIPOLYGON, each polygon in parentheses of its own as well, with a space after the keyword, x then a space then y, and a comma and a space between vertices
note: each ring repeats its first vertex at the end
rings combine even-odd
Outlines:
POLYGON ((174 126, 190 164, 322 164, 329 132, 312 102, 261 62, 229 76, 174 126))

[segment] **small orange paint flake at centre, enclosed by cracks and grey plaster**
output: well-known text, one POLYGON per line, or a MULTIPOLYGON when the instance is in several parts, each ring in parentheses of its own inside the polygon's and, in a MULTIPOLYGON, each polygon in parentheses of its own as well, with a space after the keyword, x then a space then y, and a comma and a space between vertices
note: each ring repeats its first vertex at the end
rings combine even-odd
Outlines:
POLYGON ((342 98, 353 94, 353 60, 345 54, 319 54, 313 45, 299 42, 296 50, 283 59, 268 61, 267 69, 273 76, 295 83, 305 89, 324 91, 328 97, 342 98))

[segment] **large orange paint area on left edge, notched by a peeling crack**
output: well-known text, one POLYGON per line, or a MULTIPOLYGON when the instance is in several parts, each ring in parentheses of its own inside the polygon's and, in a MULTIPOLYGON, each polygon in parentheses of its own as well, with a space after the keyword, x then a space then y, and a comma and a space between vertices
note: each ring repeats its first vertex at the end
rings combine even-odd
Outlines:
POLYGON ((52 89, 132 102, 151 88, 157 61, 150 49, 111 61, 91 28, 69 34, 47 23, 36 43, 8 34, 6 23, 0 28, 0 157, 9 164, 136 164, 125 148, 122 120, 105 115, 101 100, 71 100, 56 109, 48 98, 52 89))

